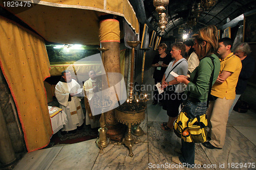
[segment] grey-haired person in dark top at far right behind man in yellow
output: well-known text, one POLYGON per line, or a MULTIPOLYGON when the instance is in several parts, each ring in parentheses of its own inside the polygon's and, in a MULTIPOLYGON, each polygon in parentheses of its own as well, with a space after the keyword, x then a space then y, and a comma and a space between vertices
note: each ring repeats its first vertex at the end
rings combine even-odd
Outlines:
POLYGON ((242 62, 242 69, 238 78, 238 84, 236 86, 236 98, 229 109, 229 114, 233 110, 234 105, 236 105, 237 101, 239 100, 241 94, 244 93, 248 79, 253 75, 255 61, 254 59, 249 56, 251 53, 251 48, 248 43, 239 43, 233 48, 234 55, 238 56, 242 62))

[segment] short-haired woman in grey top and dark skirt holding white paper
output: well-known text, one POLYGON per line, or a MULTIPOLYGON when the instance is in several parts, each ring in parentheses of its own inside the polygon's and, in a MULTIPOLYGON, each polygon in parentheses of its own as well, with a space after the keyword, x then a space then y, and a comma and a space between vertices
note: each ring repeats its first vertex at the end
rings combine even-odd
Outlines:
POLYGON ((172 44, 170 54, 174 60, 169 63, 163 75, 162 88, 165 90, 163 109, 167 111, 167 115, 169 116, 168 122, 163 123, 161 127, 165 131, 173 130, 174 121, 179 114, 179 106, 182 103, 185 87, 184 84, 178 83, 174 79, 174 75, 187 75, 188 64, 187 60, 183 58, 185 51, 186 49, 183 43, 178 42, 172 44))

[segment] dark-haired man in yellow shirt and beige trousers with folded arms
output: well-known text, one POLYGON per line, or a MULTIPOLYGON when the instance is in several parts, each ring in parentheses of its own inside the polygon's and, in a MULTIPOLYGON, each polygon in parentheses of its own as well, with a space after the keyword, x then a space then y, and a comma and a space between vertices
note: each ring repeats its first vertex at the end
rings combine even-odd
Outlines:
POLYGON ((236 85, 242 69, 239 57, 231 53, 232 40, 219 40, 218 54, 221 60, 220 75, 212 86, 211 95, 214 101, 209 102, 207 111, 209 134, 211 140, 202 143, 208 149, 222 149, 228 120, 228 111, 236 97, 236 85))

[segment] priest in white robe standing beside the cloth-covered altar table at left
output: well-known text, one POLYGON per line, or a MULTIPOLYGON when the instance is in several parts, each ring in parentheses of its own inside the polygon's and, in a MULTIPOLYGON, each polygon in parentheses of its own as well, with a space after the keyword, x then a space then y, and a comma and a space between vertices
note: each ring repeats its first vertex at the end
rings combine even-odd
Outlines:
POLYGON ((84 115, 80 104, 81 100, 75 96, 81 87, 71 78, 70 71, 62 71, 61 75, 62 77, 55 87, 55 96, 60 108, 67 114, 68 123, 64 125, 62 131, 72 131, 83 124, 84 115))

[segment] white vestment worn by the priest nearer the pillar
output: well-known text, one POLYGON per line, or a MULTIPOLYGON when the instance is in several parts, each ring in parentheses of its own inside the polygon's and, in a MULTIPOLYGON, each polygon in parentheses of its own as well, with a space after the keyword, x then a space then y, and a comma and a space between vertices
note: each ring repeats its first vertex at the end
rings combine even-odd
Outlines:
POLYGON ((98 88, 101 87, 101 81, 99 81, 98 79, 92 80, 90 78, 83 84, 83 89, 84 89, 84 91, 86 91, 86 97, 87 97, 87 100, 86 99, 84 100, 84 102, 85 102, 84 104, 86 105, 86 125, 91 125, 91 128, 97 128, 97 127, 100 127, 100 124, 99 124, 100 116, 92 115, 92 111, 91 111, 91 108, 90 108, 89 102, 88 102, 88 100, 91 101, 94 96, 92 82, 95 82, 97 84, 98 88))

